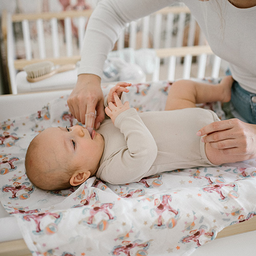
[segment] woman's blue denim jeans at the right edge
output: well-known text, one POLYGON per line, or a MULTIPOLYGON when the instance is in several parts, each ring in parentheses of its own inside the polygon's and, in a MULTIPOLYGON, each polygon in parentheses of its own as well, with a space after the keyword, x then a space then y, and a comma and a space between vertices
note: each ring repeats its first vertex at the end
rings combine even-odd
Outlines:
MULTIPOLYGON (((229 70, 226 71, 226 75, 231 75, 229 70)), ((244 90, 237 81, 234 81, 231 88, 231 103, 234 110, 248 123, 256 124, 256 94, 244 90)))

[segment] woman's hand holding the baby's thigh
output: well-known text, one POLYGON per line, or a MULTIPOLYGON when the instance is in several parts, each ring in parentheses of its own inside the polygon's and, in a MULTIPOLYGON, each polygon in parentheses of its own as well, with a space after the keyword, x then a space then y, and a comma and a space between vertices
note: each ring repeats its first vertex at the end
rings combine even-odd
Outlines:
POLYGON ((237 155, 238 161, 256 157, 256 125, 237 118, 217 121, 204 126, 197 133, 203 142, 218 148, 223 154, 237 155))

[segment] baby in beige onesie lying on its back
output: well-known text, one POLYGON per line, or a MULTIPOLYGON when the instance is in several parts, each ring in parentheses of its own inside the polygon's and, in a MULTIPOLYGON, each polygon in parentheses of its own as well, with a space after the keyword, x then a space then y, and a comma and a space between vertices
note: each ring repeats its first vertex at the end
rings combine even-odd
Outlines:
POLYGON ((30 143, 25 166, 28 178, 46 190, 77 186, 96 176, 112 184, 140 181, 161 172, 239 161, 204 143, 197 132, 218 121, 196 103, 231 97, 233 79, 217 84, 178 80, 170 88, 165 111, 137 113, 120 100, 131 84, 119 82, 105 98, 105 119, 89 131, 80 125, 50 127, 30 143))

